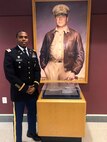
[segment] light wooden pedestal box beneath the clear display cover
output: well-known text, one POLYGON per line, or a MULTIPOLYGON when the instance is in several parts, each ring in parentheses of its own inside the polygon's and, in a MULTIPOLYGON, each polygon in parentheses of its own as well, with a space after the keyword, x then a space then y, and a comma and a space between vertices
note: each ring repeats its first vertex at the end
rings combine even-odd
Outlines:
POLYGON ((86 101, 81 99, 42 99, 37 101, 38 135, 76 137, 85 135, 86 101))

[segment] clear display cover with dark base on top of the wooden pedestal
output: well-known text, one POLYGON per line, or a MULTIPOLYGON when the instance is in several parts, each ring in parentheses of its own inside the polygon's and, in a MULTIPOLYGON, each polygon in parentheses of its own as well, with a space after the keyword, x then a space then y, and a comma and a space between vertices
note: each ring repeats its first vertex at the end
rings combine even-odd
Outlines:
POLYGON ((44 99, 80 99, 80 87, 76 83, 46 83, 42 88, 44 99))

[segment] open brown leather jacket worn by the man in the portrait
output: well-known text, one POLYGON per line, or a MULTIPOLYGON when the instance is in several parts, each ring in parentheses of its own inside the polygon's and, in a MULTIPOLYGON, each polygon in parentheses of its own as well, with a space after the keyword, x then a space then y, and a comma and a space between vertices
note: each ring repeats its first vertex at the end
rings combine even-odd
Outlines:
MULTIPOLYGON (((40 51, 40 64, 44 69, 50 60, 50 46, 53 41, 55 29, 48 32, 43 40, 40 51)), ((64 68, 78 74, 84 63, 84 49, 80 34, 69 28, 69 32, 64 33, 64 68)))

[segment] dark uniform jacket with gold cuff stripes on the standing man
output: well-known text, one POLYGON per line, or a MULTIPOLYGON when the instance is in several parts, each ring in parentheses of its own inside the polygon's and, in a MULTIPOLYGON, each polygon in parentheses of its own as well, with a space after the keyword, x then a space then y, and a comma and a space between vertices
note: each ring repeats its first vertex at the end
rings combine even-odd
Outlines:
POLYGON ((36 52, 28 48, 28 53, 29 56, 23 53, 18 46, 5 51, 4 72, 11 84, 12 101, 38 97, 40 66, 36 52), (29 85, 34 85, 36 88, 33 95, 26 93, 29 85))

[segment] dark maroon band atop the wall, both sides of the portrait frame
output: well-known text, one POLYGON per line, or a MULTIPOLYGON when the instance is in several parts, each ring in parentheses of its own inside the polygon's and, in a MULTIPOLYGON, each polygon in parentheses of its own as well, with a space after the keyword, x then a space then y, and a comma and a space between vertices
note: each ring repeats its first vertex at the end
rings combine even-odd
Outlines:
MULTIPOLYGON (((107 0, 92 0, 92 14, 107 14, 107 0)), ((0 16, 32 15, 32 0, 0 0, 0 16)))

